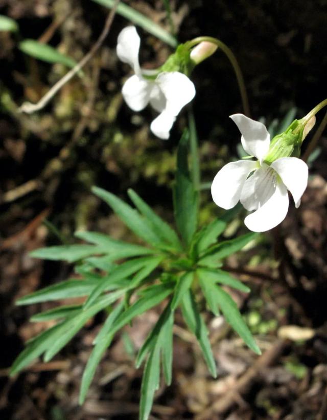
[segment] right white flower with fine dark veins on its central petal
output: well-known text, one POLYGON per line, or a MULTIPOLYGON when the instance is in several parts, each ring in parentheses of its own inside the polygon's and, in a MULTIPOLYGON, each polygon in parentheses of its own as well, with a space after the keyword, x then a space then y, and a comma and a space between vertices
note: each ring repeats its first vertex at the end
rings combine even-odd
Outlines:
POLYGON ((264 158, 269 150, 270 135, 265 125, 242 114, 230 118, 242 134, 244 150, 258 160, 239 160, 223 166, 213 181, 212 196, 222 208, 231 208, 240 201, 248 211, 254 210, 244 223, 253 232, 265 232, 286 217, 287 190, 293 196, 295 207, 300 205, 308 184, 308 166, 295 157, 282 157, 267 165, 264 158))

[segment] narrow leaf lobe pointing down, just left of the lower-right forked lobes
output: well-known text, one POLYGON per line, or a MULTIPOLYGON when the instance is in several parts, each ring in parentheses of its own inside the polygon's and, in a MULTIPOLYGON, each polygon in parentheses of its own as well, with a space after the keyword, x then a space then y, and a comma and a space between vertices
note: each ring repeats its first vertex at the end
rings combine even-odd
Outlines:
POLYGON ((197 308, 197 304, 194 300, 192 290, 186 292, 182 300, 182 313, 183 318, 188 325, 189 329, 196 336, 200 347, 202 349, 204 360, 208 366, 210 373, 216 377, 217 369, 216 363, 211 349, 210 342, 208 340, 208 330, 205 326, 203 319, 197 308))

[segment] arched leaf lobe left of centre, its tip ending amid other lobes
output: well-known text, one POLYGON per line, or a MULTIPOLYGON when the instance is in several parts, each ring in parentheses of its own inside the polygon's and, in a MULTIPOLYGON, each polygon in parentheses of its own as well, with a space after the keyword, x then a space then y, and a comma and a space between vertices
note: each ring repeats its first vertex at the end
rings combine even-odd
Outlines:
POLYGON ((119 283, 120 281, 125 280, 127 277, 131 276, 136 271, 146 266, 149 261, 153 261, 151 257, 135 258, 116 266, 110 272, 110 274, 103 277, 98 285, 91 291, 87 301, 84 304, 84 309, 91 306, 101 295, 101 293, 110 286, 111 283, 119 283))

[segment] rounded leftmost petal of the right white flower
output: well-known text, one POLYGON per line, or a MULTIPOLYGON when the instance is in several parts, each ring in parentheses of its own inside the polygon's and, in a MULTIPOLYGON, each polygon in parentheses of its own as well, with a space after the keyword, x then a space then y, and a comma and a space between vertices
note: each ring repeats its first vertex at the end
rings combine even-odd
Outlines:
POLYGON ((256 165, 257 162, 252 160, 238 160, 223 166, 211 186, 214 202, 225 209, 235 206, 240 199, 247 176, 256 165))

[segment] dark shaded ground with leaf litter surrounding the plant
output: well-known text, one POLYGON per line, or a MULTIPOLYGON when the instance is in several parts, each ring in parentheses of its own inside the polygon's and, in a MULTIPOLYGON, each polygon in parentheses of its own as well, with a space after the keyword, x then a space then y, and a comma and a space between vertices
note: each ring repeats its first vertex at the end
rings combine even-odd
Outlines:
MULTIPOLYGON (((169 30, 164 2, 128 4, 169 30)), ((291 107, 300 118, 325 99, 325 0, 170 4, 181 41, 211 35, 233 50, 244 72, 253 118, 281 120, 291 107)), ((88 0, 0 0, 0 14, 16 19, 20 28, 19 35, 0 32, 1 419, 133 420, 138 415, 142 370, 134 368, 133 355, 156 321, 156 311, 116 337, 82 407, 81 375, 101 317, 53 361, 38 361, 8 377, 24 342, 51 325, 29 322, 50 304, 17 307, 15 300, 72 274, 72 266, 28 256, 37 247, 60 243, 54 229, 42 223, 44 218, 67 242, 83 228, 129 239, 126 228, 91 195, 94 184, 123 198, 132 187, 159 214, 173 218, 170 187, 186 118, 181 115, 171 139, 161 141, 149 132, 151 111, 134 114, 123 103, 121 86, 128 69, 116 58, 115 44, 128 24, 124 18, 115 17, 84 77, 72 79, 40 112, 17 113, 22 102, 36 102, 66 72, 61 65, 24 55, 17 48, 19 38, 42 39, 79 60, 95 43, 107 13, 88 0)), ((145 31, 139 33, 142 64, 162 64, 169 47, 145 31)), ((242 108, 235 77, 219 50, 194 71, 193 81, 203 181, 210 182, 237 155, 239 134, 228 115, 242 108)), ((321 119, 319 115, 318 123, 321 119)), ((327 419, 325 133, 315 155, 299 209, 290 206, 282 225, 263 236, 246 257, 228 260, 228 268, 251 287, 249 296, 233 297, 263 355, 255 356, 223 319, 207 314, 219 372, 213 380, 192 335, 177 323, 174 380, 171 387, 159 389, 153 419, 327 419)), ((207 192, 202 204, 202 220, 217 213, 207 192)), ((231 235, 245 232, 242 220, 230 227, 231 235)))

